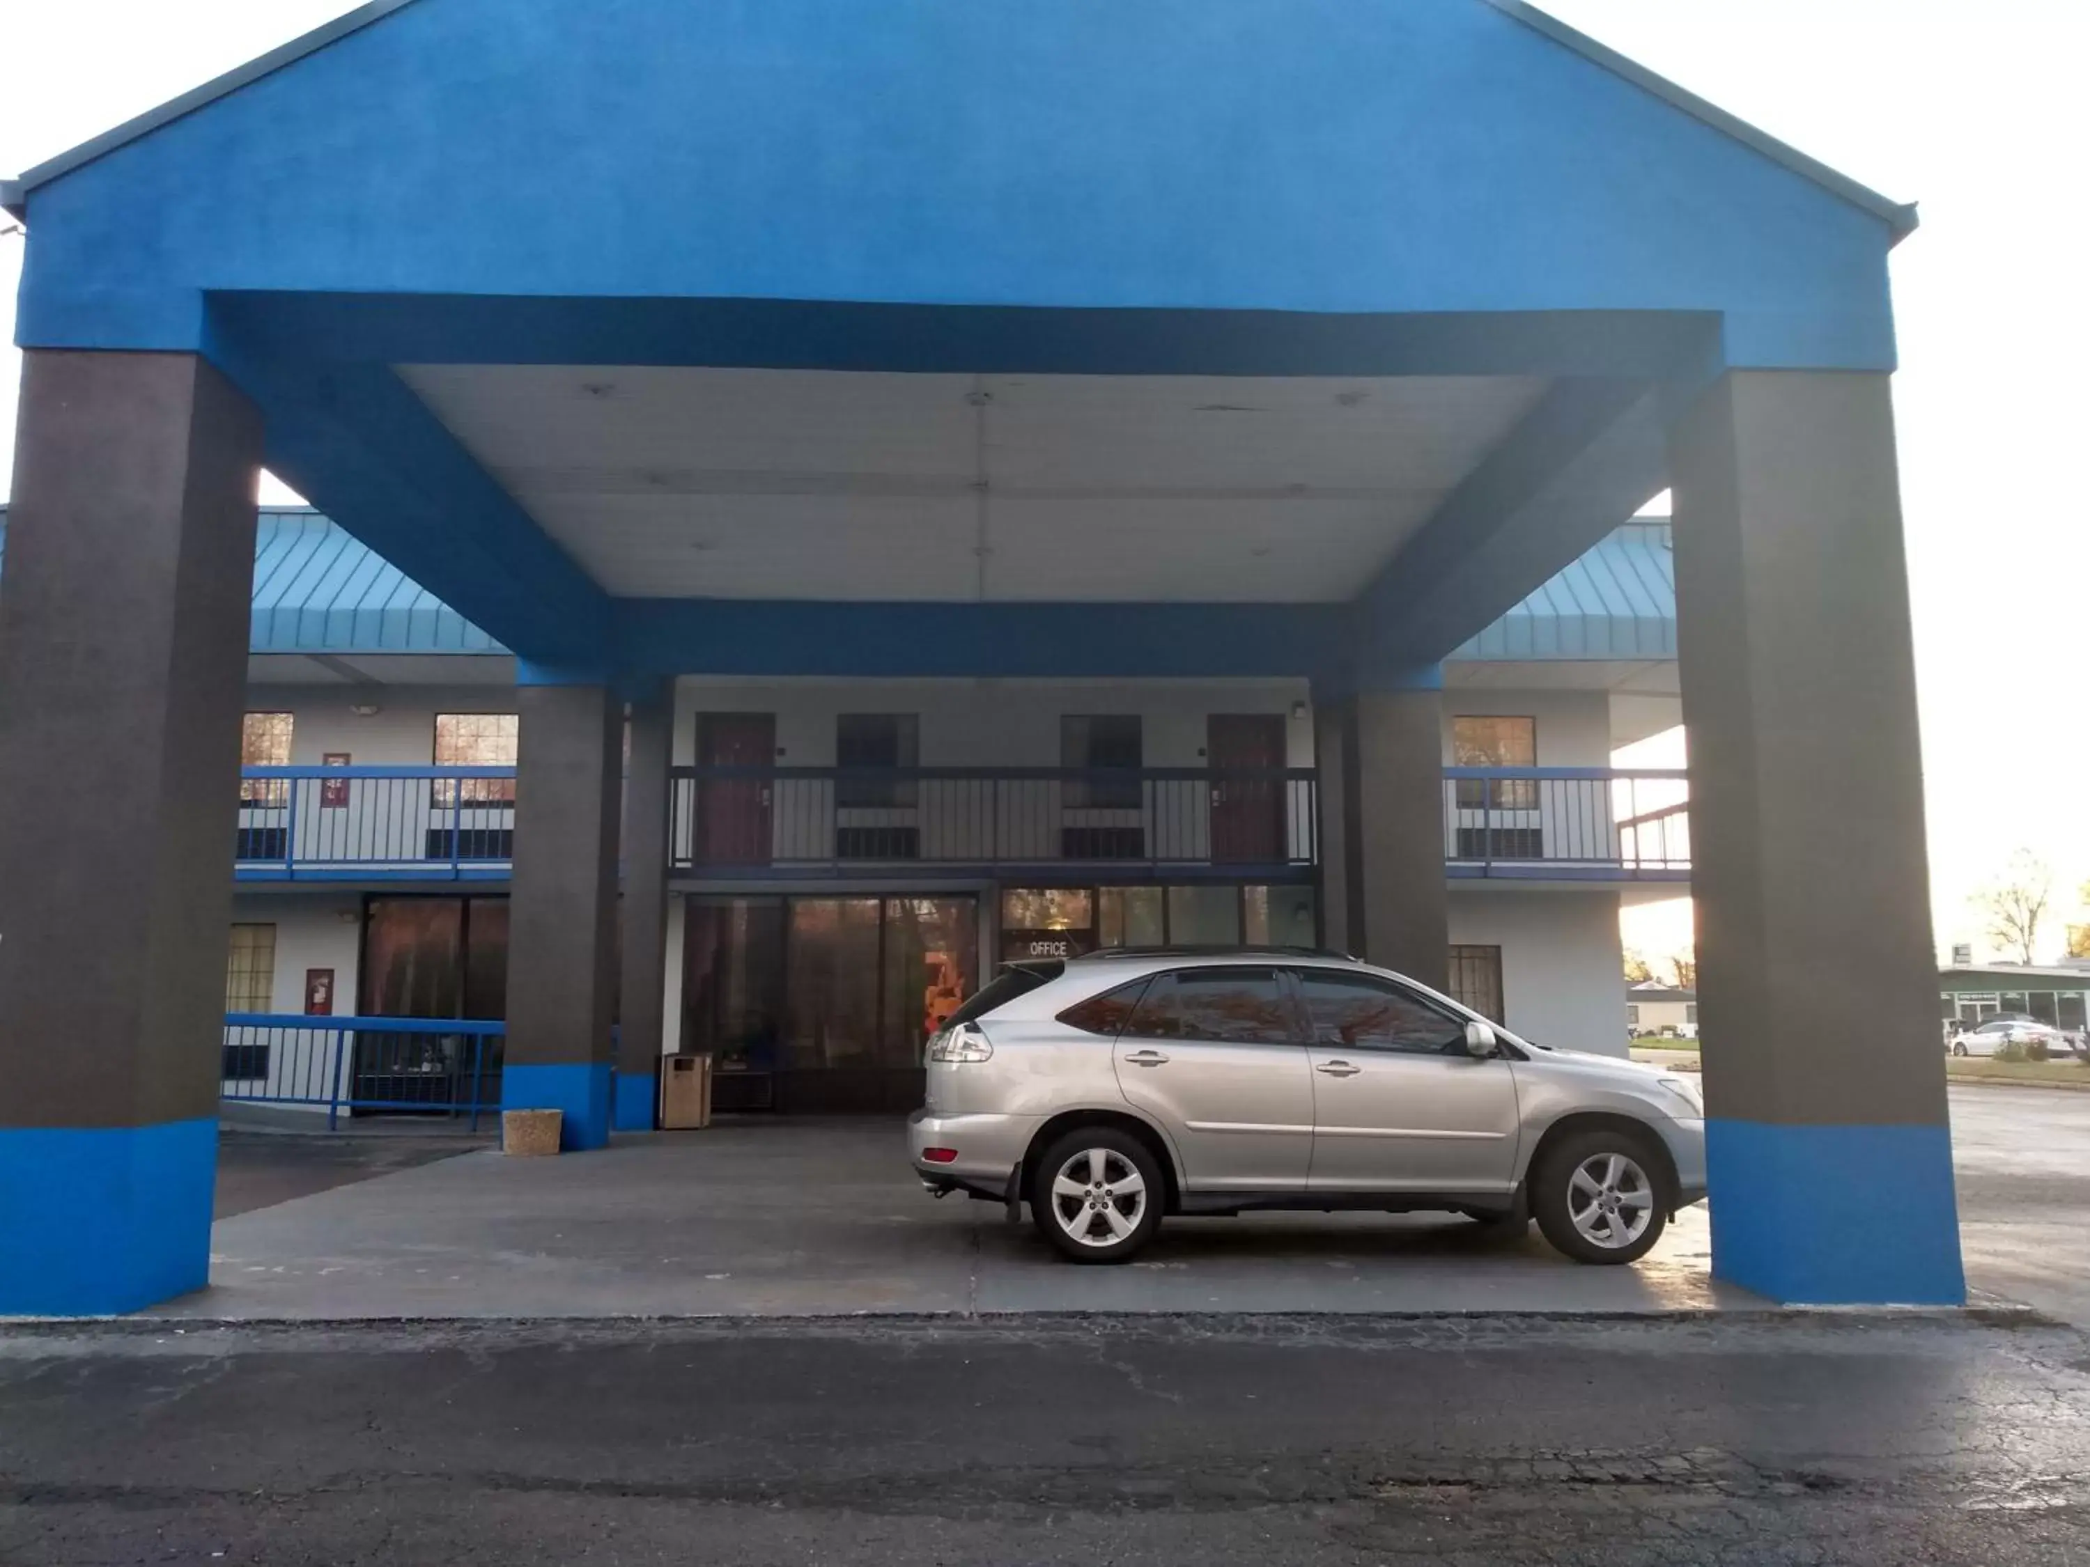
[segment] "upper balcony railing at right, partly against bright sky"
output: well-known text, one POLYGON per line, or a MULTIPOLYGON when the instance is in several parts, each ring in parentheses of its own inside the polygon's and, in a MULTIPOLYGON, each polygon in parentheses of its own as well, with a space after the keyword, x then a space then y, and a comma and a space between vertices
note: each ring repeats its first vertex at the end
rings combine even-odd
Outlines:
POLYGON ((1685 882, 1689 773, 1448 767, 1444 863, 1463 878, 1685 882))

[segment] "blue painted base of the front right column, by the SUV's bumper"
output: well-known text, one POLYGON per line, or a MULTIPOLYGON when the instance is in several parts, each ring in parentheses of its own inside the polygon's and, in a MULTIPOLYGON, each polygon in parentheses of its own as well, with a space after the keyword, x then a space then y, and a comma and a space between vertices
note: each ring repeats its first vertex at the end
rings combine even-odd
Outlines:
POLYGON ((1793 1306, 1960 1306, 1946 1126, 1705 1122, 1712 1270, 1793 1306))

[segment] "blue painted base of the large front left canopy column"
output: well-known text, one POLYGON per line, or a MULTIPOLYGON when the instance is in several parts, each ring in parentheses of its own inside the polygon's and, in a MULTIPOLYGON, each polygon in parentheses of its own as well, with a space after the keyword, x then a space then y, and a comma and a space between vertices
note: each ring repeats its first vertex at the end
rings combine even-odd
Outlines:
POLYGON ((0 1128, 0 1316, 115 1316, 211 1281, 217 1122, 0 1128))

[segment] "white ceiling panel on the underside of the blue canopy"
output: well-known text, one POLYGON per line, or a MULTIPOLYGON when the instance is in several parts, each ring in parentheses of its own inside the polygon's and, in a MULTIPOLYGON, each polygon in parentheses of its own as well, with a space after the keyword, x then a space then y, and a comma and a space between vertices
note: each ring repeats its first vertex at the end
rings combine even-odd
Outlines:
POLYGON ((619 598, 1340 602, 1530 378, 401 366, 619 598))

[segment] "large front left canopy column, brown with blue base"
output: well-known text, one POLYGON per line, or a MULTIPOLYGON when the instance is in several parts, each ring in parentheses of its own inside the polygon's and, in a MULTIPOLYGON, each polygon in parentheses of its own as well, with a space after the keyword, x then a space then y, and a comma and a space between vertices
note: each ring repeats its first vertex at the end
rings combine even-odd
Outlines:
POLYGON ((23 364, 0 593, 0 1314, 209 1281, 261 420, 23 364))

